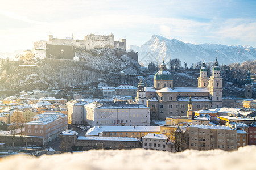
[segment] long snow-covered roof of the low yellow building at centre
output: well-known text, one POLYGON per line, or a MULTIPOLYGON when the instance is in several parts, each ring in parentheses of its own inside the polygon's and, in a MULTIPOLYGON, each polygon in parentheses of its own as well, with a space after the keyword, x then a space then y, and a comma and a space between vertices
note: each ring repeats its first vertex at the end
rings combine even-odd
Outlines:
POLYGON ((159 126, 94 126, 86 135, 99 135, 104 132, 160 132, 159 126))

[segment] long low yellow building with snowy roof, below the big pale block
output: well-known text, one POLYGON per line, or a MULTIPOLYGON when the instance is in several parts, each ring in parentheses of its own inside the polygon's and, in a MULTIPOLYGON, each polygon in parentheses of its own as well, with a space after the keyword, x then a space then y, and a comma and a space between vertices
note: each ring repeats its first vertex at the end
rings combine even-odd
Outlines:
POLYGON ((87 136, 100 137, 131 137, 142 139, 148 133, 159 134, 159 126, 94 126, 90 128, 87 136))

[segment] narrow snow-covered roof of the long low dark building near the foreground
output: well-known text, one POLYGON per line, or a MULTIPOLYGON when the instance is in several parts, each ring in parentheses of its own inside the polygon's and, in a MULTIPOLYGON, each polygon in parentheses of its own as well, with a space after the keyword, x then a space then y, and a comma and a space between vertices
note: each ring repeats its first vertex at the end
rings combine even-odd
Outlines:
POLYGON ((97 137, 97 136, 86 136, 77 137, 77 140, 81 141, 131 141, 131 142, 138 142, 139 139, 137 138, 128 138, 128 137, 97 137))

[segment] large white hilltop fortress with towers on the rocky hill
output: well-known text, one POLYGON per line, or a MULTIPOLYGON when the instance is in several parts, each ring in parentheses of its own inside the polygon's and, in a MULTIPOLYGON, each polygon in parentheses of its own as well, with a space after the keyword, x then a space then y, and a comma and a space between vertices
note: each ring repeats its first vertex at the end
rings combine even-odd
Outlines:
MULTIPOLYGON (((54 38, 49 35, 49 40, 34 42, 35 57, 39 59, 43 58, 63 58, 73 59, 75 57, 75 48, 93 50, 97 48, 110 48, 115 49, 117 56, 127 54, 130 56, 130 52, 126 52, 126 39, 121 41, 114 41, 114 35, 94 35, 89 34, 85 36, 84 40, 74 39, 72 37, 66 37, 65 39, 54 38)), ((134 54, 132 55, 134 56, 134 54)), ((138 61, 138 55, 133 59, 138 61)))

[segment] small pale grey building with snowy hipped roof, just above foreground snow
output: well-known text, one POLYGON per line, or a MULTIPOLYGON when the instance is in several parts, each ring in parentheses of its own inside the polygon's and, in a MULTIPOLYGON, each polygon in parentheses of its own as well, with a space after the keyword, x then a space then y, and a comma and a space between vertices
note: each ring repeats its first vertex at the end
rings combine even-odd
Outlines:
POLYGON ((142 148, 175 152, 174 143, 168 143, 168 137, 166 135, 155 133, 148 133, 142 137, 142 148))

